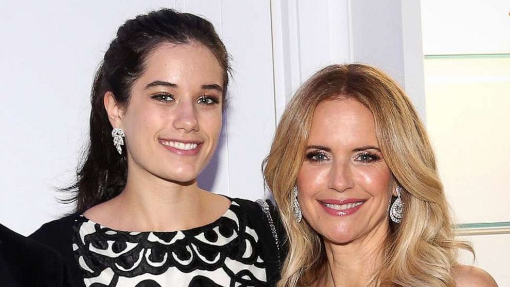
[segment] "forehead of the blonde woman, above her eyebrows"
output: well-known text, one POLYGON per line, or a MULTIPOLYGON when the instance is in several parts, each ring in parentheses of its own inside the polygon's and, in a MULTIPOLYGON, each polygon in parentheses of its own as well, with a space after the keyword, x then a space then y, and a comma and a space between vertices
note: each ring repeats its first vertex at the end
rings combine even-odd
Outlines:
POLYGON ((321 102, 312 120, 310 140, 314 139, 377 146, 374 117, 365 105, 353 99, 321 102))

